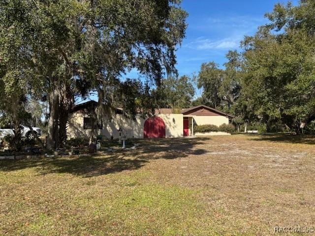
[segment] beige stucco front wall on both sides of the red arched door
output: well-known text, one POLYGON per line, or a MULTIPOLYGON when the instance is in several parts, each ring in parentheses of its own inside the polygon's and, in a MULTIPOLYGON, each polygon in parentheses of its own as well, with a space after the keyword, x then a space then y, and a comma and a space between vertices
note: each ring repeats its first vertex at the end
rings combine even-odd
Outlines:
MULTIPOLYGON (((88 114, 72 114, 68 121, 67 136, 68 138, 88 138, 91 130, 83 129, 83 118, 89 117, 88 114)), ((182 114, 160 114, 165 123, 165 137, 177 138, 183 137, 183 115, 182 114), (173 118, 175 123, 173 122, 173 118)), ((143 138, 143 126, 145 119, 137 116, 135 120, 126 118, 123 115, 116 115, 111 122, 103 123, 103 130, 98 130, 104 138, 113 136, 119 138, 119 128, 126 133, 127 138, 143 138)))

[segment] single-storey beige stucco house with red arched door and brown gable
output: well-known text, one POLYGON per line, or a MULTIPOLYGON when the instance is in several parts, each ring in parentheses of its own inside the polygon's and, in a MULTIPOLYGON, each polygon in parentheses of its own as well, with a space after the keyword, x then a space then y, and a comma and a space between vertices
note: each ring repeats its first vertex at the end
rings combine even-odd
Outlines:
MULTIPOLYGON (((93 118, 91 109, 95 109, 97 103, 89 101, 76 105, 68 119, 68 138, 83 137, 90 135, 93 118)), ((106 124, 97 123, 95 133, 103 137, 119 137, 120 129, 127 138, 178 138, 193 136, 195 125, 228 124, 231 115, 223 113, 214 108, 200 105, 182 109, 174 113, 173 109, 157 109, 155 115, 149 118, 136 116, 135 119, 126 118, 122 109, 116 109, 116 116, 106 124)))

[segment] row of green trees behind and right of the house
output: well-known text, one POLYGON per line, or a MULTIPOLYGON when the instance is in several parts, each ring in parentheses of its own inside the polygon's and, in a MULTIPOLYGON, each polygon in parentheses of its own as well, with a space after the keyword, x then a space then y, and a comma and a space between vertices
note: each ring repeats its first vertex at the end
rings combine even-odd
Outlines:
MULTIPOLYGON (((258 122, 301 133, 315 120, 315 1, 276 4, 270 23, 227 53, 224 69, 203 63, 201 97, 193 103, 235 115, 237 126, 258 122)), ((276 127, 276 128, 275 128, 276 127)))

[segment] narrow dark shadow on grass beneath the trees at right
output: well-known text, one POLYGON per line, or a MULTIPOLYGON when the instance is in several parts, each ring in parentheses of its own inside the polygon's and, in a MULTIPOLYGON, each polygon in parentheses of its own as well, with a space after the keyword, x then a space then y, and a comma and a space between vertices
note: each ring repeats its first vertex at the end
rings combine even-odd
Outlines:
POLYGON ((294 134, 245 134, 254 136, 255 141, 270 141, 289 144, 315 144, 315 135, 294 135, 294 134))

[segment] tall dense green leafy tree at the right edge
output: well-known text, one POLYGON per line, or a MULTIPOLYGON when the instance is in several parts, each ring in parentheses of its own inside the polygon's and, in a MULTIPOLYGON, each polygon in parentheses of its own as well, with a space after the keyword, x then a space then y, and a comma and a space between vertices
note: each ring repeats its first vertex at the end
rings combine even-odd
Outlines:
POLYGON ((301 132, 315 119, 315 3, 275 5, 270 24, 243 41, 244 97, 263 122, 301 132))

